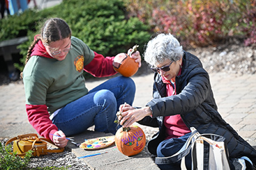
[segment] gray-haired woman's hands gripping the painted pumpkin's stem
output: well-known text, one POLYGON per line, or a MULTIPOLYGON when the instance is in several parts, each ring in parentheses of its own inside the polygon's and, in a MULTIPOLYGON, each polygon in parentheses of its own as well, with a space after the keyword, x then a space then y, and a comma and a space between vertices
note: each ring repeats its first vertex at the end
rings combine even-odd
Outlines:
POLYGON ((121 120, 120 124, 124 127, 129 127, 134 122, 138 122, 142 120, 142 118, 152 115, 152 111, 149 107, 134 109, 129 104, 121 105, 119 111, 123 111, 122 115, 118 116, 118 120, 121 120))

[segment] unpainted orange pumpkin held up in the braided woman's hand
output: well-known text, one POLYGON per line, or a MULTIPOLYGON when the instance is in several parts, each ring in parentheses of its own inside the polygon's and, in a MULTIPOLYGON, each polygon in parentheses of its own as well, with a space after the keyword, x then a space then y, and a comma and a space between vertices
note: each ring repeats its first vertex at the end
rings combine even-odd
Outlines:
POLYGON ((113 61, 114 69, 124 77, 131 77, 139 69, 139 63, 125 53, 119 53, 113 61))

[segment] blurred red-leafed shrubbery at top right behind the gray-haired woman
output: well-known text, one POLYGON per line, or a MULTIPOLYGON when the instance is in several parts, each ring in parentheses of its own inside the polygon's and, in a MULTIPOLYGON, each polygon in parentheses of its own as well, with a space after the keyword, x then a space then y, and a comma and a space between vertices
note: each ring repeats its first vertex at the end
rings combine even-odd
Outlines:
POLYGON ((255 0, 126 0, 129 16, 137 16, 153 32, 171 32, 183 46, 217 45, 228 37, 256 44, 255 0))

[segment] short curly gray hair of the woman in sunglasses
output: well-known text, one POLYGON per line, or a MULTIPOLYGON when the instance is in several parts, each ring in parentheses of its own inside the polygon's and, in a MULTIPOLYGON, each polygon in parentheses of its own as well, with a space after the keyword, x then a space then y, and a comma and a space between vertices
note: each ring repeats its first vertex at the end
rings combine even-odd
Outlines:
POLYGON ((161 33, 151 39, 144 53, 144 60, 151 66, 165 60, 178 61, 183 56, 179 41, 171 33, 161 33))

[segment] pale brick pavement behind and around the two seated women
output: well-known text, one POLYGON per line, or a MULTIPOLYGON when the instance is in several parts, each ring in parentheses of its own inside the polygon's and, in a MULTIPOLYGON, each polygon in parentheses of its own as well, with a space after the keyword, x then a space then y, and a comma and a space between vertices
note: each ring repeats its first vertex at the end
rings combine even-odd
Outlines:
MULTIPOLYGON (((145 106, 152 96, 153 73, 132 79, 137 86, 134 106, 145 106)), ((105 80, 86 81, 86 87, 91 89, 105 80)), ((256 146, 256 74, 213 73, 210 81, 222 117, 252 146, 256 146)), ((0 86, 0 124, 29 124, 22 82, 0 86)), ((0 137, 3 136, 0 134, 0 137)))

